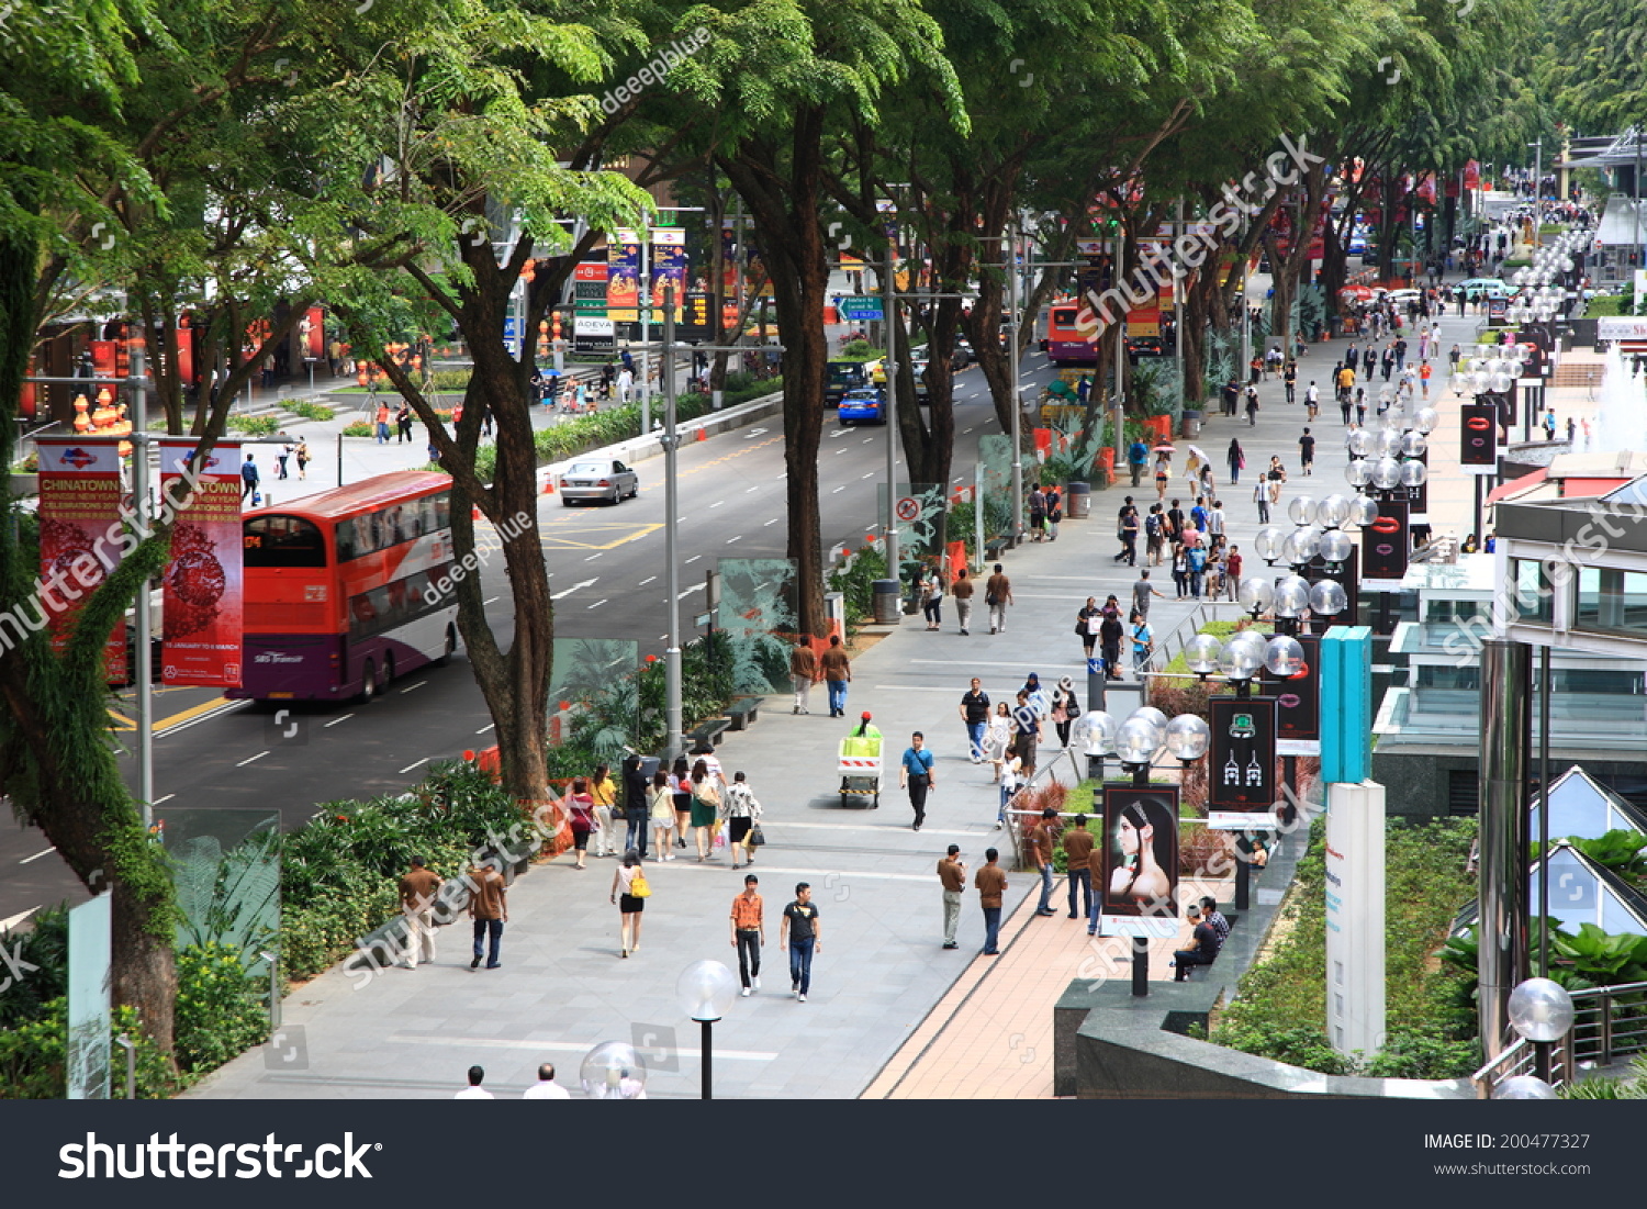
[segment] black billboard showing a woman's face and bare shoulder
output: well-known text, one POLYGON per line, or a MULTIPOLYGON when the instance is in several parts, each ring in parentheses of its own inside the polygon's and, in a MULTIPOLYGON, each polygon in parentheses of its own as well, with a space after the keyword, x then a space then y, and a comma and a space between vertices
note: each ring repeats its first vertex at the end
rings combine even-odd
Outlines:
POLYGON ((1099 893, 1105 934, 1178 934, 1176 786, 1103 786, 1099 893))

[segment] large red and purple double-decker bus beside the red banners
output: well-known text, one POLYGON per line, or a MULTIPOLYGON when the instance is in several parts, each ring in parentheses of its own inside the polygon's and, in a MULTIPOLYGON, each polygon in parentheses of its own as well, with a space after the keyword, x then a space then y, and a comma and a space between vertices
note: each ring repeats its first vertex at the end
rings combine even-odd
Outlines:
POLYGON ((242 522, 245 659, 229 697, 371 700, 458 649, 451 479, 377 474, 242 522))

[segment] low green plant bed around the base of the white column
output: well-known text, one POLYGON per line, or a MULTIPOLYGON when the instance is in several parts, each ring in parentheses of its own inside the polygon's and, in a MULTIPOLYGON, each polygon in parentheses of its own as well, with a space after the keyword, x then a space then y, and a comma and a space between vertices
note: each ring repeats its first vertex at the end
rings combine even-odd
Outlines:
POLYGON ((1309 850, 1288 894, 1291 931, 1240 980, 1239 998, 1222 1015, 1217 1044, 1295 1062, 1324 1074, 1400 1074, 1453 1079, 1477 1066, 1474 1018, 1459 1006, 1463 972, 1431 955, 1458 904, 1472 893, 1464 875, 1474 820, 1425 825, 1390 822, 1385 835, 1385 1013, 1383 1054, 1351 1059, 1334 1051, 1319 1023, 1326 1015, 1326 820, 1311 825, 1309 850))

